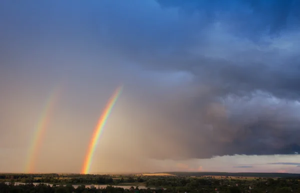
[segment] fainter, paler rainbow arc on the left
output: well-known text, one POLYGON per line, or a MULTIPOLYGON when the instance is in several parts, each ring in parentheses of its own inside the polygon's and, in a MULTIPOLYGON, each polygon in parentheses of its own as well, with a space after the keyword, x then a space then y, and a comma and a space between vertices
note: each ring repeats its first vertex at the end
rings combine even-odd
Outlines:
POLYGON ((48 126, 53 108, 58 99, 58 96, 60 95, 60 92, 61 92, 61 86, 54 88, 44 104, 42 113, 40 114, 40 117, 34 129, 31 144, 29 146, 28 158, 25 166, 26 173, 34 172, 35 161, 37 159, 39 147, 41 146, 42 137, 48 126))

